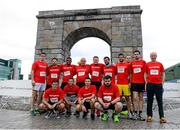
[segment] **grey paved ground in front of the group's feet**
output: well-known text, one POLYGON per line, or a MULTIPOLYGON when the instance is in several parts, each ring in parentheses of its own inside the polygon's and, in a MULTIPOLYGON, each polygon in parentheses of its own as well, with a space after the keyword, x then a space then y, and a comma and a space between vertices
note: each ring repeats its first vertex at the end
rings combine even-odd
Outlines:
POLYGON ((154 113, 154 121, 133 121, 121 119, 119 123, 113 123, 111 119, 106 122, 96 118, 84 120, 74 116, 60 119, 45 119, 44 115, 32 117, 28 111, 14 111, 0 109, 1 129, 180 129, 180 109, 165 112, 168 123, 160 124, 157 112, 154 113))

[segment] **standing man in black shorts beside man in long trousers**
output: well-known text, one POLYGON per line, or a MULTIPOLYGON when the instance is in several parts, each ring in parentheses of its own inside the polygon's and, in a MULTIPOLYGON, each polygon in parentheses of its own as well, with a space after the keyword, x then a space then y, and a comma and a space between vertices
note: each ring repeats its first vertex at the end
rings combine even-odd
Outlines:
POLYGON ((134 114, 133 119, 142 120, 145 119, 142 117, 143 109, 143 92, 145 90, 145 67, 146 62, 141 59, 140 51, 134 51, 135 60, 131 62, 131 87, 133 91, 133 105, 134 105, 134 114), (137 114, 137 106, 139 106, 139 114, 137 114))

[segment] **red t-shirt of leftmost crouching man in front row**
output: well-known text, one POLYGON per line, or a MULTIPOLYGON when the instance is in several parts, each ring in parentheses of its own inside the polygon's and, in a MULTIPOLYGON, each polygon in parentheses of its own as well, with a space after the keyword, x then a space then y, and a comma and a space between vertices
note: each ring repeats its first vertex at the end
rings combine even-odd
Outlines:
POLYGON ((64 99, 64 92, 61 88, 57 88, 55 91, 52 88, 47 89, 44 92, 43 98, 49 100, 51 103, 56 103, 61 99, 64 99))

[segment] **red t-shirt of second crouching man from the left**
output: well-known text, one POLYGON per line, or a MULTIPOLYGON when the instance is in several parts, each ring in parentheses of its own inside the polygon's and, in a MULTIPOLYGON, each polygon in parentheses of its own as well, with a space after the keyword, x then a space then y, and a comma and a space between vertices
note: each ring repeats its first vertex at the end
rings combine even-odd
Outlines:
POLYGON ((67 84, 64 87, 64 93, 66 95, 78 95, 78 92, 79 92, 79 87, 77 85, 69 86, 69 84, 67 84))

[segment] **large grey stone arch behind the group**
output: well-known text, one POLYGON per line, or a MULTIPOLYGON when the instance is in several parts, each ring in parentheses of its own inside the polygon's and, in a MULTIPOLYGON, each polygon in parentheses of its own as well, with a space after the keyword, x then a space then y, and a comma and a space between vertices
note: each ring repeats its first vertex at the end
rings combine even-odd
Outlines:
POLYGON ((62 63, 80 39, 98 37, 110 45, 111 59, 119 52, 132 55, 142 52, 140 6, 117 6, 102 9, 40 11, 35 60, 43 51, 47 61, 56 57, 62 63))

